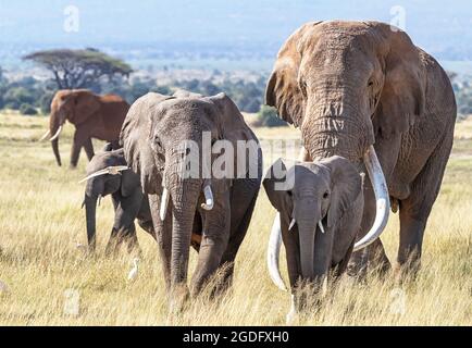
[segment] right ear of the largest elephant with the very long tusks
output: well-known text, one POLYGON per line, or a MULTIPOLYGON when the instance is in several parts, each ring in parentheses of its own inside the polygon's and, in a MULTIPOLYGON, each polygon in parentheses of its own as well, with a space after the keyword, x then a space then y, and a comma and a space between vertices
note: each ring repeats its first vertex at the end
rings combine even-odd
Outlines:
POLYGON ((425 72, 422 51, 408 35, 386 24, 377 24, 386 37, 384 86, 373 124, 378 136, 390 138, 405 133, 423 114, 425 108, 425 72))

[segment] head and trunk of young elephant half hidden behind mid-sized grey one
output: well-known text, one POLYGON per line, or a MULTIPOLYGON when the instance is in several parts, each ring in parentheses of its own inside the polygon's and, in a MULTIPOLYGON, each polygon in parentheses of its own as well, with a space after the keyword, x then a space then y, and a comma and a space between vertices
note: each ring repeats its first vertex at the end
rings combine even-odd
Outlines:
POLYGON ((97 201, 107 195, 121 192, 128 197, 139 187, 139 178, 127 170, 123 149, 97 153, 87 164, 84 206, 86 209, 87 239, 91 251, 96 249, 97 201))

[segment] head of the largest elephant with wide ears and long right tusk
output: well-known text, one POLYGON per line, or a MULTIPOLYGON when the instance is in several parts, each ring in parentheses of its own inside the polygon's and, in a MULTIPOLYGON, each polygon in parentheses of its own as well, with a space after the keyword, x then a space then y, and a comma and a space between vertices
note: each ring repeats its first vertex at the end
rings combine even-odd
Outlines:
POLYGON ((373 243, 386 225, 389 198, 373 144, 398 137, 425 108, 422 51, 406 33, 377 22, 319 22, 296 30, 278 52, 266 103, 301 129, 312 159, 341 156, 363 164, 376 217, 356 244, 373 243))

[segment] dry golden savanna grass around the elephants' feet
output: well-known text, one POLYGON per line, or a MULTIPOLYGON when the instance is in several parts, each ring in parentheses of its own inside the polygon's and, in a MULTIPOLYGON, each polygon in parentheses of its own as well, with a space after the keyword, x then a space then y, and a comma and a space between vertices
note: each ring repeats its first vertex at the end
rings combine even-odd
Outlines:
MULTIPOLYGON (((57 167, 49 144, 37 144, 46 117, 0 115, 0 325, 164 325, 166 304, 161 268, 153 240, 138 231, 142 247, 139 277, 126 283, 133 257, 86 258, 80 210, 85 156, 79 167, 57 167), (80 294, 78 316, 63 313, 64 291, 80 294)), ((63 163, 69 163, 72 127, 61 138, 63 163)), ((290 128, 257 129, 261 139, 296 138, 290 128)), ((471 123, 458 126, 461 139, 472 137, 471 123)), ((270 142, 265 142, 270 144, 270 142)), ((392 279, 370 276, 364 285, 344 279, 321 310, 302 318, 302 325, 471 325, 472 324, 472 148, 462 142, 448 166, 440 197, 424 240, 423 268, 406 285, 405 312, 392 279), (401 303, 400 303, 401 304, 401 303)), ((96 144, 96 148, 99 148, 96 144)), ((280 156, 275 153, 274 157, 280 156)), ((272 159, 265 158, 269 164, 272 159)), ((261 191, 248 236, 237 258, 233 289, 218 302, 204 297, 172 324, 283 325, 289 299, 277 290, 265 270, 265 245, 274 216, 261 191)), ((98 246, 103 250, 112 225, 112 204, 98 210, 98 246)), ((395 259, 398 217, 384 233, 388 256, 395 259)), ((192 251, 191 270, 196 253, 192 251)), ((284 261, 283 261, 284 264, 284 261)), ((286 277, 285 265, 283 274, 286 277)))

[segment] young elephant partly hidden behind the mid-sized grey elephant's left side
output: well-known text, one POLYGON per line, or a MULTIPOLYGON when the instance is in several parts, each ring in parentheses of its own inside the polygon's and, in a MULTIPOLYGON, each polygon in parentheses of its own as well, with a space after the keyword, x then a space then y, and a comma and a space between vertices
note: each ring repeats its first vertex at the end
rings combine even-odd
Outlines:
POLYGON ((151 212, 148 196, 142 194, 137 174, 127 169, 123 149, 112 150, 107 145, 103 152, 97 153, 87 165, 87 182, 83 207, 86 208, 87 238, 90 251, 96 249, 96 208, 97 200, 107 195, 112 196, 115 219, 105 252, 117 250, 123 241, 128 251, 138 248, 135 219, 139 226, 152 237, 151 212))

